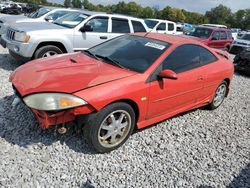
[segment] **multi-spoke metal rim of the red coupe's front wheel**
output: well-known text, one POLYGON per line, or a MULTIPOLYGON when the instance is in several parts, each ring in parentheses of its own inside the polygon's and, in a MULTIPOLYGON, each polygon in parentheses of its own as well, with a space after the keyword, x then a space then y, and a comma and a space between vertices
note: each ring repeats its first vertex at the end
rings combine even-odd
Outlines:
POLYGON ((99 143, 106 148, 119 145, 131 129, 131 116, 124 110, 116 110, 103 120, 99 131, 99 143))

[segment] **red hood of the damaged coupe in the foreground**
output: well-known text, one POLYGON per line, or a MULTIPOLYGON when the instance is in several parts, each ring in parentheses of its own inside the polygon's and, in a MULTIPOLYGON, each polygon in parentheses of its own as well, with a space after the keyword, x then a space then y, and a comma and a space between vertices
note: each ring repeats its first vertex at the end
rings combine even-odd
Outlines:
POLYGON ((81 52, 26 63, 10 76, 21 96, 38 92, 74 93, 136 74, 81 52))

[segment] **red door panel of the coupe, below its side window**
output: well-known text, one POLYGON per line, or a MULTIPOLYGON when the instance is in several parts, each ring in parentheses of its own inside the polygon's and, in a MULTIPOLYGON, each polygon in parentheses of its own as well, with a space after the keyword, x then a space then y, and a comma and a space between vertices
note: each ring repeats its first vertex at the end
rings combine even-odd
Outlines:
POLYGON ((195 106, 203 87, 199 74, 198 68, 179 73, 177 80, 151 82, 147 118, 195 106))

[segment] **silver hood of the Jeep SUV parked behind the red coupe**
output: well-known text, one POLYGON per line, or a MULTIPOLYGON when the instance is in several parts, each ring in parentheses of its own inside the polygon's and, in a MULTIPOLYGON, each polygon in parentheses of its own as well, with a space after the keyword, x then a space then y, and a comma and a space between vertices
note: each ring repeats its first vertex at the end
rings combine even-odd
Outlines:
POLYGON ((24 23, 15 23, 10 26, 12 29, 17 31, 38 31, 38 30, 55 30, 55 29, 65 29, 65 27, 50 23, 50 22, 24 22, 24 23))

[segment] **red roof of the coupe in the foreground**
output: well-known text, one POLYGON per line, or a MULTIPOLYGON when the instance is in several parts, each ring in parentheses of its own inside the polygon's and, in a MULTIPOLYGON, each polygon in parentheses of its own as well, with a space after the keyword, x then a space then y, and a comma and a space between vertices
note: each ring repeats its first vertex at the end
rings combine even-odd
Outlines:
POLYGON ((161 40, 163 42, 171 43, 171 44, 186 44, 186 43, 192 43, 192 44, 199 44, 203 46, 203 44, 197 40, 194 40, 190 38, 189 36, 185 35, 170 35, 170 34, 160 34, 160 33, 135 33, 132 35, 137 36, 145 36, 151 39, 161 40))

